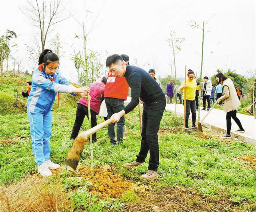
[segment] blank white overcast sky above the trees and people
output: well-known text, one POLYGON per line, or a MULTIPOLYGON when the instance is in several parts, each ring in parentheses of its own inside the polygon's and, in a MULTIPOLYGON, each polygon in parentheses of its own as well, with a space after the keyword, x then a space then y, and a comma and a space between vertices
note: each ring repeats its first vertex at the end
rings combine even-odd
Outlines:
MULTIPOLYGON (((103 65, 108 55, 126 53, 131 64, 136 58, 146 71, 154 67, 157 76, 170 74, 173 56, 166 40, 170 38, 172 29, 176 36, 185 38, 181 51, 176 55, 177 77, 184 75, 185 65, 199 75, 202 30, 192 29, 187 22, 194 20, 202 25, 212 17, 205 25, 203 75, 210 77, 217 68, 226 70, 227 61, 228 68, 243 75, 255 69, 254 0, 65 0, 62 5, 67 3, 63 17, 71 13, 82 22, 88 14, 84 20, 87 30, 103 5, 88 40, 88 48, 100 53, 103 65)), ((18 46, 12 48, 12 52, 17 51, 14 56, 23 58, 24 69, 32 71, 25 45, 32 45, 39 31, 22 14, 20 8, 25 5, 25 0, 2 2, 0 35, 7 29, 20 35, 15 41, 18 46)), ((73 48, 79 51, 83 44, 82 39, 74 38, 75 34, 82 35, 82 28, 74 18, 56 24, 50 35, 60 33, 65 52, 60 58, 60 68, 68 79, 72 78, 72 72, 76 72, 71 60, 73 48)), ((49 42, 45 47, 48 46, 49 42)), ((172 69, 174 73, 174 67, 172 69)))

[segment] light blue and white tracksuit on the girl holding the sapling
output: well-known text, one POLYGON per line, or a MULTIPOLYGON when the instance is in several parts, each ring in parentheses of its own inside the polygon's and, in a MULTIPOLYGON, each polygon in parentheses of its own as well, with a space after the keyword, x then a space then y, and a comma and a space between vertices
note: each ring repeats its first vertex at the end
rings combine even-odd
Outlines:
MULTIPOLYGON (((56 92, 71 93, 73 85, 57 70, 48 75, 42 66, 32 75, 32 89, 27 101, 32 151, 38 165, 50 159, 52 105, 56 92), (39 69, 43 71, 40 71, 39 69), (50 79, 51 78, 51 79, 50 79)), ((75 93, 71 93, 75 95, 75 93)))

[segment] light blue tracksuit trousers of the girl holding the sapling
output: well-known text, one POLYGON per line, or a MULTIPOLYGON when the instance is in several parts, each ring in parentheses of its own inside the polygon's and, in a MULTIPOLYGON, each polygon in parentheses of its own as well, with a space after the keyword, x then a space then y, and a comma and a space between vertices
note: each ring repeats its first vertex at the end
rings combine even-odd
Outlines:
POLYGON ((28 109, 32 151, 38 165, 50 160, 50 138, 52 127, 52 111, 37 113, 28 109))

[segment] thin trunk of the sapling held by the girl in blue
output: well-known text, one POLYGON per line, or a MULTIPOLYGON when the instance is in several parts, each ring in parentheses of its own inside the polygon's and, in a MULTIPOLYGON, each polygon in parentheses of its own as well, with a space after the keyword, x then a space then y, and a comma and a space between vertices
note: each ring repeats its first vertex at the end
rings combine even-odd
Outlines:
MULTIPOLYGON (((88 62, 87 62, 87 54, 86 54, 86 34, 83 22, 83 35, 84 35, 84 60, 85 60, 85 70, 86 70, 86 86, 89 87, 88 81, 88 62)), ((88 93, 88 118, 89 118, 89 126, 92 126, 92 119, 91 119, 91 108, 90 108, 90 95, 88 93)), ((91 174, 94 175, 94 164, 93 164, 93 147, 92 147, 92 135, 90 135, 90 150, 91 150, 91 174)))

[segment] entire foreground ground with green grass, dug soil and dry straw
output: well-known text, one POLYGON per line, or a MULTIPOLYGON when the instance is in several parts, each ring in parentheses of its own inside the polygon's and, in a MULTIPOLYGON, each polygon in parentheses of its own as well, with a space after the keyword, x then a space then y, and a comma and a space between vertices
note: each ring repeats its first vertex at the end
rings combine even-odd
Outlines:
MULTIPOLYGON (((221 140, 206 129, 203 134, 187 135, 182 118, 168 112, 158 133, 158 180, 140 180, 148 158, 144 166, 123 167, 140 149, 137 109, 126 115, 128 135, 123 144, 111 146, 106 128, 97 134, 94 176, 90 175, 88 145, 78 170, 70 170, 63 162, 72 145, 69 137, 76 113, 72 101, 65 99, 60 108, 54 107, 51 160, 61 168, 49 178, 37 174, 27 114, 0 115, 0 211, 256 210, 256 148, 221 140)), ((98 123, 102 121, 99 117, 98 123)), ((88 120, 81 130, 86 129, 88 120)))

